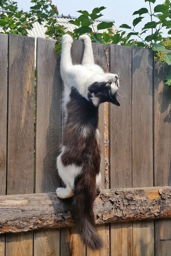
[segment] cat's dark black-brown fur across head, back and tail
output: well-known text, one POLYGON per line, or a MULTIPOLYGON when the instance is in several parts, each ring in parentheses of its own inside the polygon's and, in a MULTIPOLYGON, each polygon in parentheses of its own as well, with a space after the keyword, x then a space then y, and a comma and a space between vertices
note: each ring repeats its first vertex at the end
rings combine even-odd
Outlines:
MULTIPOLYGON (((105 83, 94 83, 92 93, 99 95, 101 102, 110 101, 109 88, 105 83)), ((114 102, 113 102, 114 103, 114 102)), ((100 193, 96 185, 96 175, 100 172, 100 145, 96 138, 98 126, 98 107, 92 101, 82 97, 75 88, 71 88, 70 101, 67 103, 67 120, 63 130, 62 145, 66 146, 61 156, 64 166, 75 164, 82 166, 82 172, 74 184, 72 205, 73 218, 83 242, 92 249, 99 249, 103 241, 94 224, 93 203, 100 193), (83 129, 87 132, 83 134, 83 129)))

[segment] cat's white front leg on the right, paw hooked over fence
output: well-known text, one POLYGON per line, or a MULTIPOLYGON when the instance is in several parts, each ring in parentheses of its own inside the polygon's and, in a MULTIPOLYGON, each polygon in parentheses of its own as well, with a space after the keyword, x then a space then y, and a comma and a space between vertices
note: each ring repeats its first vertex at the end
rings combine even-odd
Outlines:
POLYGON ((82 59, 82 65, 94 64, 93 49, 91 46, 91 39, 88 35, 82 35, 79 37, 84 41, 84 54, 82 59))

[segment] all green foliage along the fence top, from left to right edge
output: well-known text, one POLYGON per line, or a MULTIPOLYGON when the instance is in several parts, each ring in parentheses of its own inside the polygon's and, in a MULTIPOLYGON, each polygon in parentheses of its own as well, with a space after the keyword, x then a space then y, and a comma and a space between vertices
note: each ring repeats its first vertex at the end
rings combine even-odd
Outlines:
MULTIPOLYGON (((73 38, 78 39, 80 35, 88 33, 92 42, 96 43, 115 43, 130 47, 145 47, 157 51, 154 57, 155 61, 161 64, 167 63, 171 65, 171 53, 167 50, 171 49, 171 37, 162 37, 162 28, 171 35, 171 2, 165 0, 163 4, 155 5, 156 0, 144 0, 148 2, 149 8, 141 8, 133 13, 132 26, 122 24, 119 30, 113 29, 113 22, 102 21, 95 27, 95 20, 102 17, 104 6, 94 8, 91 13, 79 10, 80 16, 71 20, 76 28, 72 32, 66 32, 67 29, 56 21, 58 14, 57 7, 52 4, 52 0, 31 0, 32 6, 29 12, 18 10, 17 2, 12 0, 0 0, 0 8, 5 12, 0 13, 0 27, 4 34, 27 35, 33 24, 37 21, 39 24, 46 22, 44 27, 47 37, 57 40, 56 51, 61 51, 61 38, 65 33, 69 33, 73 38), (142 24, 145 17, 149 17, 149 21, 143 26, 142 30, 136 29, 137 24, 142 24), (106 31, 101 31, 106 29, 106 31)), ((166 84, 171 85, 171 75, 166 77, 166 84)))

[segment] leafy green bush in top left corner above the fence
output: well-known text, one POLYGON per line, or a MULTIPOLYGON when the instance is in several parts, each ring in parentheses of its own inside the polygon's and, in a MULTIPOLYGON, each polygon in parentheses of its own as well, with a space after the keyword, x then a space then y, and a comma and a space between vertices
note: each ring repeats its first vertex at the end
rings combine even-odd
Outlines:
POLYGON ((36 21, 42 24, 58 14, 51 0, 31 0, 31 3, 34 5, 30 7, 30 11, 24 12, 18 10, 17 2, 0 0, 0 8, 5 11, 0 13, 1 33, 27 36, 28 30, 33 28, 36 21))

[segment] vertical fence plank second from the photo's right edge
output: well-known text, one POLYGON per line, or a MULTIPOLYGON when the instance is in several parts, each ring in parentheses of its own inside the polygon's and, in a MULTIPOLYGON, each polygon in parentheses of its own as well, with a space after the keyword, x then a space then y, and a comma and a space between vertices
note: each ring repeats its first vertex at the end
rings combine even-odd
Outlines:
MULTIPOLYGON (((143 48, 132 50, 132 184, 153 186, 153 52, 143 48)), ((133 222, 133 255, 144 254, 154 255, 153 220, 133 222)))

